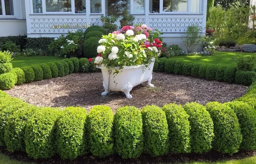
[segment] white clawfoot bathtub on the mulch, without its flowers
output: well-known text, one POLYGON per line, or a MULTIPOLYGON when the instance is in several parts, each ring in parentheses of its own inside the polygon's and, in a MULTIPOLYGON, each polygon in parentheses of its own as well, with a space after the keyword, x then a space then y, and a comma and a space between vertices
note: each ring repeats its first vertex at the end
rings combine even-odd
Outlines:
POLYGON ((131 99, 132 95, 130 91, 133 87, 140 85, 143 82, 147 82, 147 85, 154 87, 151 84, 152 71, 155 63, 155 58, 151 59, 152 62, 148 67, 145 65, 139 66, 125 66, 119 70, 118 74, 113 75, 115 70, 109 70, 105 66, 98 66, 101 69, 103 76, 103 87, 105 89, 101 95, 107 95, 109 91, 122 91, 126 95, 126 98, 131 99))

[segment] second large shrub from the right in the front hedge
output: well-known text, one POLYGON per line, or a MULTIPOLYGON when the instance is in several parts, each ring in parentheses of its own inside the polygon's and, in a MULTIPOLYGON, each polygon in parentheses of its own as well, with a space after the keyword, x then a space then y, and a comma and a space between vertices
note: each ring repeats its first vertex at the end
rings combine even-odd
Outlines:
POLYGON ((212 147, 221 153, 236 153, 242 141, 241 129, 234 111, 219 102, 208 102, 206 109, 214 122, 212 147))

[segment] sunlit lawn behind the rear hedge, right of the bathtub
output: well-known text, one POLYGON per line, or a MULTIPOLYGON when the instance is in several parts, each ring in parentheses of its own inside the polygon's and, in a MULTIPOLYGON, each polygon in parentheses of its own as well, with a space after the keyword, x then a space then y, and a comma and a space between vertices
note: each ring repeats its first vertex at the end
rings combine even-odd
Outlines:
MULTIPOLYGON (((224 65, 237 65, 237 55, 244 56, 253 55, 255 53, 246 52, 216 52, 212 56, 173 56, 175 59, 184 59, 185 61, 197 62, 197 63, 209 63, 209 64, 224 64, 224 65)), ((254 60, 256 63, 256 59, 254 60)))

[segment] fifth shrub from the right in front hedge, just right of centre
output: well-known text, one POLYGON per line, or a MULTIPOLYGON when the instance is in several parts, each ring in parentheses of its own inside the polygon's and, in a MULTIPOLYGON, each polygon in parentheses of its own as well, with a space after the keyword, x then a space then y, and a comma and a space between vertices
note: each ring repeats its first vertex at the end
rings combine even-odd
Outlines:
POLYGON ((144 150, 151 156, 168 152, 169 130, 165 112, 157 106, 145 106, 142 111, 144 150))

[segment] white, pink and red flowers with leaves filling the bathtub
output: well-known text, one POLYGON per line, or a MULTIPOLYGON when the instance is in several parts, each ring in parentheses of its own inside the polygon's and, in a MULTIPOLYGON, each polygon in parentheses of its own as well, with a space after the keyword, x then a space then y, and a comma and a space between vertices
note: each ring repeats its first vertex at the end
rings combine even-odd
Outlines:
POLYGON ((94 63, 117 72, 124 66, 149 65, 152 58, 161 54, 161 34, 158 30, 153 33, 146 24, 124 26, 121 31, 102 36, 94 63))

